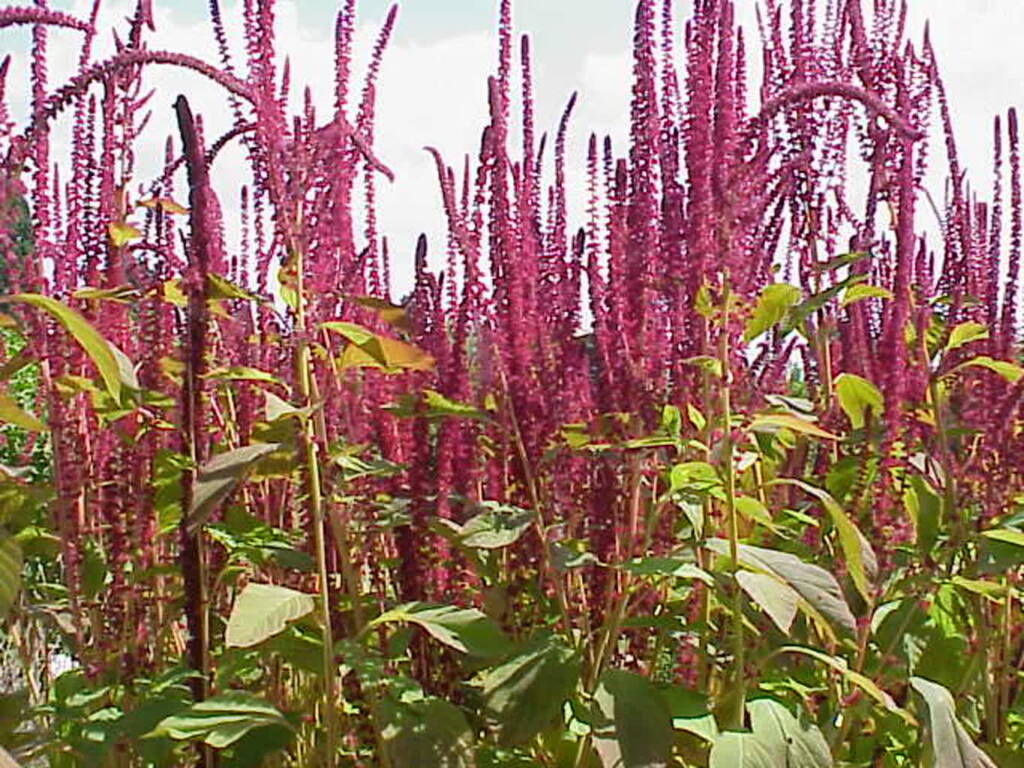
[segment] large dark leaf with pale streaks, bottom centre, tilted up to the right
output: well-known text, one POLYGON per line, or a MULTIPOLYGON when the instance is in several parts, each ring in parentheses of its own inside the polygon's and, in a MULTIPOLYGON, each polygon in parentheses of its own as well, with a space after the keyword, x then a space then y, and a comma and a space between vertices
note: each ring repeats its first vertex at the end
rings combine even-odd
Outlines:
POLYGON ((503 746, 530 741, 562 713, 580 680, 580 659, 557 639, 545 637, 480 680, 484 711, 503 746))

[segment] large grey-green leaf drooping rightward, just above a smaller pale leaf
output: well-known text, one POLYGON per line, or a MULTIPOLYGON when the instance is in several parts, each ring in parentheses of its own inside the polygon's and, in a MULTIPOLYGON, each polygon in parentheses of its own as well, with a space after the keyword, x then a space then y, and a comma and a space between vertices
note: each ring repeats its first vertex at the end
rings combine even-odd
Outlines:
MULTIPOLYGON (((729 553, 729 543, 724 539, 710 539, 705 546, 722 556, 729 553)), ((788 552, 739 545, 739 563, 745 568, 769 573, 793 587, 801 598, 800 608, 821 623, 826 617, 843 634, 856 634, 857 623, 850 606, 843 597, 836 577, 824 568, 806 563, 788 552)))

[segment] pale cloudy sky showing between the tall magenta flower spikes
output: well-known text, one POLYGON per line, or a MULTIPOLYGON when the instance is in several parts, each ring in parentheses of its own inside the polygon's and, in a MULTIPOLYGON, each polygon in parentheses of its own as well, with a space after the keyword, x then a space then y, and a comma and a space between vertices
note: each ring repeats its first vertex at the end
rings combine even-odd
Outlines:
MULTIPOLYGON (((0 7, 13 4, 29 4, 29 0, 0 0, 0 7)), ((51 0, 50 4, 85 16, 91 2, 51 0)), ((100 28, 120 25, 133 5, 133 0, 104 0, 100 28)), ((385 0, 359 2, 357 75, 390 5, 385 0)), ((459 164, 463 153, 478 146, 486 122, 486 78, 497 56, 497 0, 399 2, 397 27, 378 87, 376 139, 379 156, 397 174, 392 184, 381 179, 379 190, 380 228, 389 237, 397 295, 411 284, 413 247, 421 231, 432 241, 434 263, 442 258, 439 195, 433 162, 423 146, 437 146, 450 164, 459 164)), ((691 0, 679 0, 677 12, 685 15, 690 5, 691 0)), ((154 0, 154 6, 157 33, 151 37, 152 48, 215 59, 206 0, 154 0)), ((337 0, 280 0, 278 7, 279 48, 292 57, 293 82, 310 85, 314 100, 326 108, 331 99, 328 73, 337 0)), ((754 7, 754 0, 737 0, 740 22, 753 24, 754 7)), ((236 43, 240 8, 241 0, 222 0, 236 43)), ((568 167, 575 172, 569 179, 570 212, 577 216, 575 224, 582 223, 586 202, 582 160, 591 131, 610 134, 625 148, 633 8, 632 0, 514 2, 517 32, 528 33, 534 47, 539 129, 553 132, 570 94, 580 93, 569 132, 568 167)), ((992 117, 1008 106, 1024 105, 1024 56, 1020 55, 1024 3, 909 0, 909 8, 912 39, 920 40, 926 23, 930 24, 953 105, 964 165, 973 182, 986 188, 990 183, 992 117)), ((753 26, 750 29, 753 34, 753 26)), ((51 34, 52 86, 74 72, 77 36, 72 31, 51 34)), ((112 48, 109 37, 98 44, 100 53, 112 48)), ((0 31, 0 54, 13 54, 9 92, 16 119, 24 119, 27 110, 29 50, 26 32, 0 31)), ((158 169, 163 142, 173 129, 171 103, 177 93, 184 91, 194 110, 203 114, 208 135, 218 135, 230 124, 222 95, 202 79, 166 69, 154 70, 151 77, 157 94, 151 102, 153 128, 140 153, 140 177, 158 169)), ((301 89, 295 92, 299 94, 301 89)), ((58 127, 58 146, 66 140, 66 129, 58 127)), ((225 209, 230 210, 245 180, 242 157, 226 154, 218 163, 214 174, 218 193, 225 209)), ((934 183, 939 188, 932 194, 941 199, 941 179, 934 183)))

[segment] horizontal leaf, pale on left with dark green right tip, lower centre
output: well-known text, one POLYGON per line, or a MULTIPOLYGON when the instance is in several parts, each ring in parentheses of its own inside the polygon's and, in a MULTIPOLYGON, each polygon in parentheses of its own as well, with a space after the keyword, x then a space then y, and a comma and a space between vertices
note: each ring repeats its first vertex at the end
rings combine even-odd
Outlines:
POLYGON ((493 658, 504 655, 510 647, 495 621, 476 608, 406 603, 377 616, 367 629, 390 623, 415 624, 438 642, 473 656, 493 658))

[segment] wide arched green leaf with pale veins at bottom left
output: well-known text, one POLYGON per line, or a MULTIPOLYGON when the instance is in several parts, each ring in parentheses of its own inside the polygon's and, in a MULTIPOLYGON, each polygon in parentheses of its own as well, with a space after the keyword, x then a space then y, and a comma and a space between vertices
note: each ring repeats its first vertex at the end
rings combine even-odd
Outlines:
POLYGON ((221 750, 255 728, 291 724, 270 703, 245 691, 222 693, 164 718, 148 737, 168 736, 178 741, 200 740, 221 750))

